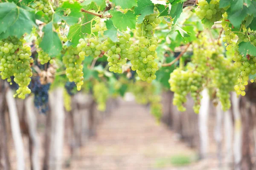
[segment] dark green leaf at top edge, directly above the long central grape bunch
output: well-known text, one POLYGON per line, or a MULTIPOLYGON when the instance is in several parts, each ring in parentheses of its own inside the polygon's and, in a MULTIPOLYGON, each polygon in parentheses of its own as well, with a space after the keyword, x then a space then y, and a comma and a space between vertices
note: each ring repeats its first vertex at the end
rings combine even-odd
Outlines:
POLYGON ((138 0, 137 7, 134 9, 135 15, 140 15, 137 22, 140 24, 143 22, 146 15, 154 13, 154 3, 151 0, 138 0))

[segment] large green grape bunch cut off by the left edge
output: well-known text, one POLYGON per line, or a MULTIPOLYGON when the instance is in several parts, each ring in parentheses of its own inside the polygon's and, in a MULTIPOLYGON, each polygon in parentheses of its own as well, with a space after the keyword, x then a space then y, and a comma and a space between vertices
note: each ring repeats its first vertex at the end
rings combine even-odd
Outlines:
POLYGON ((14 96, 25 99, 26 94, 30 94, 27 87, 31 81, 32 69, 30 64, 33 63, 31 48, 23 45, 23 37, 8 37, 0 40, 0 75, 2 79, 7 79, 10 84, 11 77, 19 85, 14 96))

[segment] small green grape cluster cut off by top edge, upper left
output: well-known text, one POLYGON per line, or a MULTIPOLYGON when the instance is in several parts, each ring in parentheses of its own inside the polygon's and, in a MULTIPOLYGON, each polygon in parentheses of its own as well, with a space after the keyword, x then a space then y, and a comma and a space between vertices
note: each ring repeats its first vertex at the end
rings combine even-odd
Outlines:
POLYGON ((55 6, 54 3, 52 1, 49 1, 49 0, 36 0, 34 3, 35 3, 35 8, 38 11, 43 11, 44 14, 49 16, 49 17, 51 17, 53 12, 57 9, 57 6, 55 6), (52 11, 52 9, 54 11, 52 11))

